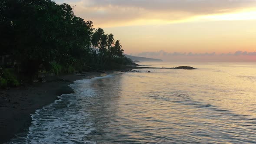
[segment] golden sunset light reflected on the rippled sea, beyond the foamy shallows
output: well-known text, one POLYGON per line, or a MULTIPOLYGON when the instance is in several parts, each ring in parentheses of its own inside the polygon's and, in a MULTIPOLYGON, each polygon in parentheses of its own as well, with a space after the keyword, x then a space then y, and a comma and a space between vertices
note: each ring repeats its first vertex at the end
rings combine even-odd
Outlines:
MULTIPOLYGON (((184 64, 151 65, 174 67, 184 64)), ((110 79, 108 85, 112 90, 116 86, 115 79, 121 81, 118 84, 118 89, 120 85, 121 89, 111 94, 121 96, 115 102, 108 101, 109 94, 102 96, 105 102, 110 103, 110 111, 105 111, 105 115, 108 112, 115 114, 109 120, 112 125, 103 131, 101 129, 102 137, 92 136, 92 139, 112 143, 113 140, 116 143, 255 141, 256 84, 240 75, 252 78, 256 76, 256 67, 237 63, 199 63, 192 66, 198 69, 138 69, 139 72, 125 73, 121 79, 110 79), (147 73, 148 70, 151 73, 147 73), (112 108, 115 111, 111 111, 112 108), (122 140, 117 141, 120 138, 122 140)), ((105 117, 97 113, 94 115, 105 117)), ((102 124, 105 125, 104 121, 102 124)))

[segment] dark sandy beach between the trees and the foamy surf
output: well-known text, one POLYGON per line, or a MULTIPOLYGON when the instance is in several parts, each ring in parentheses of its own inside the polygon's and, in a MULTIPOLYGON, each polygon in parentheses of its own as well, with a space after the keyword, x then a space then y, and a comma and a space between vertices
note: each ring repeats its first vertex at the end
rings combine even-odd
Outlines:
POLYGON ((16 134, 26 132, 32 121, 30 115, 36 109, 49 105, 59 95, 74 92, 68 86, 72 82, 100 75, 102 73, 88 72, 85 76, 55 76, 44 83, 0 90, 0 144, 10 141, 16 134))

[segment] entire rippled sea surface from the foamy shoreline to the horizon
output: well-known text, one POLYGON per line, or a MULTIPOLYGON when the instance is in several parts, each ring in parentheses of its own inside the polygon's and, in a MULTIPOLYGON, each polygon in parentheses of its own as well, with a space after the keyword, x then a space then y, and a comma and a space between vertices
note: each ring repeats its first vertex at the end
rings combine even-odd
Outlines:
POLYGON ((76 81, 36 111, 27 144, 256 143, 256 63, 141 63, 76 81), (151 71, 151 73, 148 73, 151 71))

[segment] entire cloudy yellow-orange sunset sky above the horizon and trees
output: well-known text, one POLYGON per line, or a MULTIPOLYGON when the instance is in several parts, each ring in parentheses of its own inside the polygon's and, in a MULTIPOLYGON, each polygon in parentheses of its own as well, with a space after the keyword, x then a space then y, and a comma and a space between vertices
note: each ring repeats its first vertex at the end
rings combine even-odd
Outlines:
POLYGON ((55 0, 112 33, 126 54, 256 62, 256 0, 55 0))

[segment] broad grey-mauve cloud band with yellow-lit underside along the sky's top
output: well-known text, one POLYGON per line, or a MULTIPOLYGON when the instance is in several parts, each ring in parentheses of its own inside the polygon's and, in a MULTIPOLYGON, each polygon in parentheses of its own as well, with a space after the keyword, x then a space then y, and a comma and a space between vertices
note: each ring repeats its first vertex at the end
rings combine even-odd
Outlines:
POLYGON ((57 0, 100 26, 172 22, 255 7, 255 0, 57 0))

